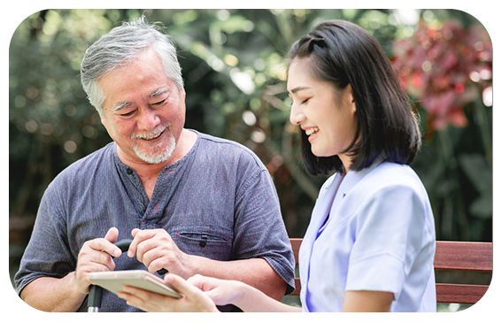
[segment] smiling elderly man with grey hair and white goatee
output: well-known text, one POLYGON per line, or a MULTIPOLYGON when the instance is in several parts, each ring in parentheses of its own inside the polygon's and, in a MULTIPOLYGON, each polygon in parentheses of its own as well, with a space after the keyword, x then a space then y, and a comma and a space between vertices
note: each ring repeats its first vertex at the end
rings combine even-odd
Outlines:
MULTIPOLYGON (((47 188, 15 277, 25 311, 86 311, 100 271, 201 273, 276 299, 294 288, 266 167, 236 142, 184 128, 181 68, 158 27, 141 18, 113 28, 87 50, 81 81, 113 142, 47 188), (129 237, 119 257, 112 243, 129 237)), ((104 291, 101 311, 139 310, 104 291)))

